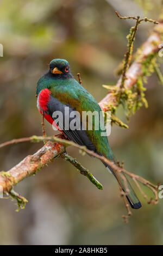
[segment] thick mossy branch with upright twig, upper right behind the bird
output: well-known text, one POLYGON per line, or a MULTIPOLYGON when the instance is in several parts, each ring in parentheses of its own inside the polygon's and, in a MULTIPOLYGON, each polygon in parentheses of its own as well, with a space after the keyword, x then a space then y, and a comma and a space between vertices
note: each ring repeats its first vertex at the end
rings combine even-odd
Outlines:
MULTIPOLYGON (((159 56, 159 44, 163 37, 162 13, 160 15, 160 22, 148 19, 147 17, 143 19, 140 19, 139 16, 122 17, 117 12, 116 15, 122 20, 134 19, 136 20, 136 25, 130 29, 129 35, 127 36, 128 47, 124 60, 121 63, 121 77, 115 86, 104 86, 105 88, 108 87, 109 93, 99 102, 99 105, 103 111, 111 109, 114 114, 116 108, 121 104, 126 111, 127 118, 129 118, 142 105, 145 105, 145 107, 148 106, 145 99, 143 83, 147 82, 146 77, 156 71, 156 58, 159 56), (136 51, 134 54, 135 60, 130 65, 135 34, 137 27, 142 21, 153 22, 156 26, 147 41, 136 51)), ((159 77, 161 77, 160 73, 159 77)))

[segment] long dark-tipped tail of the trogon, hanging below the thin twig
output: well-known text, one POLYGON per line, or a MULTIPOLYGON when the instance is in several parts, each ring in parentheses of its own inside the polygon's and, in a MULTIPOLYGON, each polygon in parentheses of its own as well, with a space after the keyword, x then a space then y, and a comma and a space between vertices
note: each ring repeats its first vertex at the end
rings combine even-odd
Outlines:
MULTIPOLYGON (((101 154, 100 154, 101 155, 101 154)), ((124 180, 122 179, 122 177, 118 174, 115 174, 115 172, 111 169, 111 167, 106 164, 105 162, 102 161, 102 163, 104 164, 104 166, 106 167, 106 169, 108 169, 114 176, 115 178, 117 179, 118 181, 118 184, 121 186, 123 192, 125 192, 125 185, 124 185, 124 180), (118 176, 117 176, 118 175, 118 176)), ((128 194, 126 196, 131 208, 133 209, 139 209, 141 208, 141 203, 139 201, 139 199, 137 198, 136 194, 135 194, 135 191, 133 190, 133 188, 131 187, 130 185, 130 182, 128 181, 126 175, 123 173, 123 175, 125 176, 126 178, 126 181, 127 181, 127 187, 128 187, 128 194)))

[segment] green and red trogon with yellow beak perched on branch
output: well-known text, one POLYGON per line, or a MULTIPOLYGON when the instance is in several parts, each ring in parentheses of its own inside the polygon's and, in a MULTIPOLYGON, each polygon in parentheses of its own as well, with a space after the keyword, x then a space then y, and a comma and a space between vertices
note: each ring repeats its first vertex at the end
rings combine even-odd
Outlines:
MULTIPOLYGON (((102 130, 100 126, 99 129, 95 129, 95 119, 92 121, 92 129, 87 129, 87 127, 86 130, 82 129, 83 111, 96 111, 100 113, 101 108, 93 96, 73 78, 67 60, 53 59, 49 63, 49 71, 37 82, 36 94, 37 108, 40 113, 44 114, 45 119, 49 123, 54 125, 54 122, 57 122, 53 113, 60 111, 64 118, 59 119, 57 125, 59 130, 61 130, 68 139, 79 145, 85 145, 87 149, 93 150, 98 155, 105 156, 115 162, 115 157, 109 147, 108 138, 101 136, 102 130), (68 111, 65 111, 65 107, 68 107, 68 111), (69 126, 68 129, 65 127, 65 120, 72 120, 71 114, 74 111, 80 113, 81 129, 71 129, 71 126, 69 126)), ((115 175, 114 170, 106 163, 104 163, 104 165, 115 176, 124 191, 125 186, 121 176, 118 174, 115 175)), ((131 208, 139 209, 141 203, 136 197, 128 180, 127 182, 129 193, 126 197, 128 202, 131 208)))

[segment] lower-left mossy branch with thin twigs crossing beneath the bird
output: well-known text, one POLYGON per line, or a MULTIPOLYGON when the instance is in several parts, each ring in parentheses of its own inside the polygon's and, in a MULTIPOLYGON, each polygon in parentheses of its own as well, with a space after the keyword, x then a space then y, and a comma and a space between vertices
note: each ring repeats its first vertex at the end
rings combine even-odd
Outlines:
MULTIPOLYGON (((109 164, 109 166, 114 170, 115 175, 117 177, 118 177, 117 173, 119 173, 122 176, 122 179, 124 180, 124 185, 127 184, 127 182, 123 174, 126 174, 130 176, 130 178, 133 179, 134 182, 135 180, 137 181, 135 182, 135 184, 139 190, 140 190, 140 186, 137 185, 138 182, 148 187, 153 192, 153 195, 154 195, 154 198, 150 200, 148 199, 148 203, 152 203, 152 204, 158 203, 158 193, 157 193, 158 186, 157 185, 152 184, 151 182, 142 178, 139 175, 128 172, 122 166, 120 166, 120 164, 116 165, 115 163, 111 162, 109 159, 106 159, 106 157, 97 155, 95 152, 87 149, 85 146, 80 146, 72 141, 67 141, 66 139, 63 139, 60 136, 52 136, 52 137, 32 136, 32 137, 26 138, 26 140, 25 138, 22 138, 22 141, 21 139, 14 139, 10 143, 9 142, 3 143, 3 147, 9 144, 21 143, 24 141, 39 143, 39 142, 43 142, 44 140, 48 142, 43 146, 42 149, 37 151, 37 153, 35 153, 33 156, 27 156, 21 163, 17 164, 17 166, 13 167, 8 172, 5 172, 6 175, 4 175, 4 172, 0 172, 0 186, 3 187, 4 193, 10 192, 10 190, 14 185, 16 185, 18 182, 20 182, 22 179, 26 178, 27 176, 35 174, 38 170, 42 169, 43 166, 45 166, 45 164, 52 162, 54 157, 57 157, 57 156, 64 157, 65 160, 71 162, 74 166, 77 167, 77 169, 82 170, 84 172, 83 174, 86 175, 87 178, 89 178, 93 184, 95 184, 98 188, 100 188, 100 186, 102 185, 99 184, 99 182, 92 176, 92 174, 89 173, 89 171, 85 169, 83 166, 81 166, 80 163, 78 163, 71 156, 68 156, 65 153, 65 147, 73 146, 78 148, 80 153, 87 153, 90 156, 94 156, 97 159, 109 164)), ((1 147, 2 147, 2 144, 0 145, 0 148, 1 147)), ((128 191, 127 185, 125 186, 125 189, 126 191, 128 191)), ((123 197, 125 195, 126 193, 121 191, 121 196, 123 197)), ((128 209, 128 204, 126 204, 126 208, 128 209)), ((128 212, 128 216, 130 216, 129 213, 130 212, 128 212)))

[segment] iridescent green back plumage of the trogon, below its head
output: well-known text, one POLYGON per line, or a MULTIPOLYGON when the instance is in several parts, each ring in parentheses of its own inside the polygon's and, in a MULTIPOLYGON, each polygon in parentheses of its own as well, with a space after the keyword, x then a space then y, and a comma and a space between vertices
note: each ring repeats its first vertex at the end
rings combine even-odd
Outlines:
MULTIPOLYGON (((61 103, 68 103, 73 109, 76 109, 82 117, 82 111, 97 111, 101 112, 97 101, 89 94, 74 78, 56 79, 42 77, 37 86, 37 94, 41 89, 48 88, 52 96, 57 98, 61 103)), ((92 120, 92 126, 95 125, 95 120, 92 120)), ((95 145, 97 151, 105 157, 113 160, 113 154, 108 144, 108 138, 101 136, 103 132, 99 126, 99 130, 86 130, 87 136, 95 145)))

